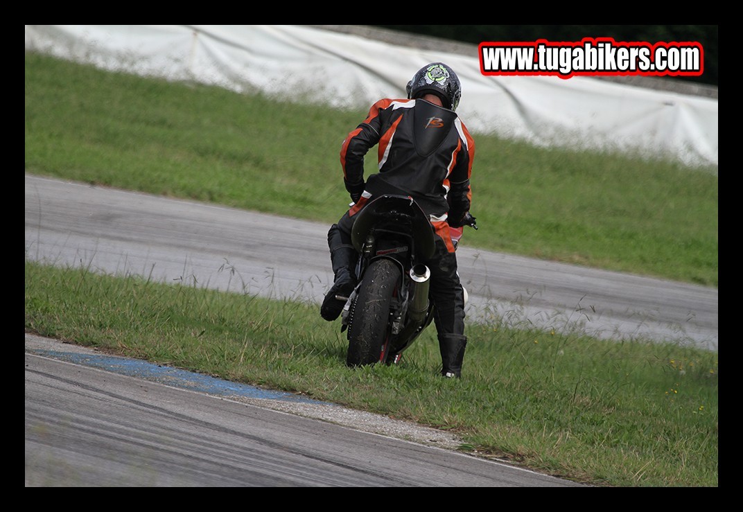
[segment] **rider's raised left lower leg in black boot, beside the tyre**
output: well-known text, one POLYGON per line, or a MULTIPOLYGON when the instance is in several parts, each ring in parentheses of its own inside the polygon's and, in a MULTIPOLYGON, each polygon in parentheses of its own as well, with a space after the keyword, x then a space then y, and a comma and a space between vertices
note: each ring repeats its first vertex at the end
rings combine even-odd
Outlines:
POLYGON ((325 294, 325 299, 320 306, 320 316, 332 322, 340 317, 348 295, 356 288, 354 267, 358 256, 354 246, 343 244, 337 224, 334 224, 328 232, 328 247, 330 247, 330 260, 335 276, 333 286, 325 294))

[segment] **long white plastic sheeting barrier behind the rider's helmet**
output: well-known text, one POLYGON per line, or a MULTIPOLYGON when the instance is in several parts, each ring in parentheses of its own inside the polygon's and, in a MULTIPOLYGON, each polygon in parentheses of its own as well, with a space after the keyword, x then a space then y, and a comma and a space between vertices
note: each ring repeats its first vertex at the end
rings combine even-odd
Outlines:
POLYGON ((305 25, 26 25, 26 49, 168 80, 366 109, 404 97, 423 65, 462 83, 473 133, 718 165, 718 100, 591 77, 491 77, 473 55, 418 50, 305 25))

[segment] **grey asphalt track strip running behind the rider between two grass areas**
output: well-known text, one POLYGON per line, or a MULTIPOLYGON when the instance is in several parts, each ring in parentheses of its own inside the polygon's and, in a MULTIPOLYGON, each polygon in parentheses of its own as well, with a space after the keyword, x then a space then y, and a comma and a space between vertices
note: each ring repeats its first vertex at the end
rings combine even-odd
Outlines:
MULTIPOLYGON (((718 291, 458 249, 467 321, 645 338, 717 350, 718 291)), ((222 291, 319 303, 332 281, 328 226, 25 176, 25 255, 222 291)))

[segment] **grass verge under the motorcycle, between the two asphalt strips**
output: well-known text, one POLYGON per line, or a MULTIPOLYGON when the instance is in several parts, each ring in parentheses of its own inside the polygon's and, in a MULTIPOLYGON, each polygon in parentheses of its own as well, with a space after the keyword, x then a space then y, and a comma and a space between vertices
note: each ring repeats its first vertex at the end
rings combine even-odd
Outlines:
POLYGON ((455 432, 462 450, 617 487, 718 485, 717 354, 489 325, 462 380, 431 329, 398 366, 345 367, 317 305, 25 265, 25 328, 455 432))

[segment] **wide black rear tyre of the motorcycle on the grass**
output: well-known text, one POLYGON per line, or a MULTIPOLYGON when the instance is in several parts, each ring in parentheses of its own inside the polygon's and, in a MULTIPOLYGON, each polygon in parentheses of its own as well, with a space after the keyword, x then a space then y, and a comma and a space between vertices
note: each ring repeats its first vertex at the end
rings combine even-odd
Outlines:
POLYGON ((400 268, 389 259, 377 259, 364 273, 348 326, 348 366, 380 362, 383 344, 389 336, 392 297, 400 281, 400 268))

